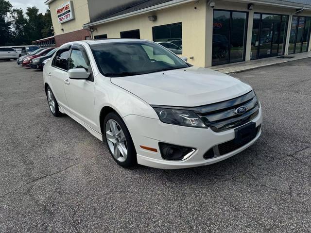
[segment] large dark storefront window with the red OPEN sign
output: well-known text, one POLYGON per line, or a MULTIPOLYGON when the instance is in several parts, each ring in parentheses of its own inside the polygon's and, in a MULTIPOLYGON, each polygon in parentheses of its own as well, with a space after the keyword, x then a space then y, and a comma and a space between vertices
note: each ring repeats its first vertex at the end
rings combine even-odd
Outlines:
POLYGON ((214 10, 212 66, 245 60, 247 13, 214 10))

